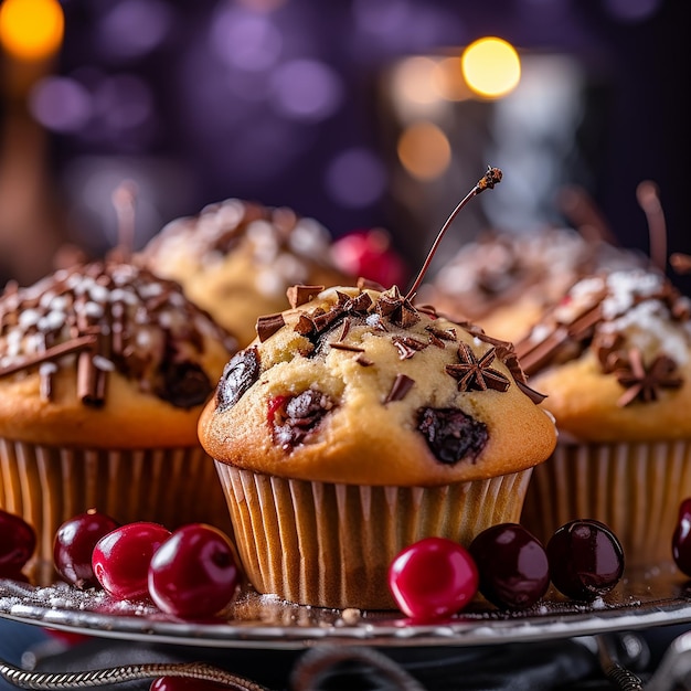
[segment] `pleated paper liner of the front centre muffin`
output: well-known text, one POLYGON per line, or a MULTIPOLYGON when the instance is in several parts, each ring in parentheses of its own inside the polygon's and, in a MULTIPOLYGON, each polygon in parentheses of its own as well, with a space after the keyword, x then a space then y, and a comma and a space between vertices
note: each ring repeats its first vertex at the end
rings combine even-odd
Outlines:
POLYGON ((531 469, 445 487, 291 480, 216 461, 246 575, 264 594, 320 607, 395 608, 389 565, 438 535, 465 544, 518 522, 531 469))

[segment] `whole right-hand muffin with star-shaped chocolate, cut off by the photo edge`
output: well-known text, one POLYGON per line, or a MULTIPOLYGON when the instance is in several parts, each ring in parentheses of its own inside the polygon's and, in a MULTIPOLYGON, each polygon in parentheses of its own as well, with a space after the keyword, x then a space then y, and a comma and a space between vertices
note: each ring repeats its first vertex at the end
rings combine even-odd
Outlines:
POLYGON ((614 530, 629 566, 671 561, 691 496, 690 313, 661 274, 614 272, 578 281, 517 343, 560 432, 524 503, 539 538, 593 518, 614 530))

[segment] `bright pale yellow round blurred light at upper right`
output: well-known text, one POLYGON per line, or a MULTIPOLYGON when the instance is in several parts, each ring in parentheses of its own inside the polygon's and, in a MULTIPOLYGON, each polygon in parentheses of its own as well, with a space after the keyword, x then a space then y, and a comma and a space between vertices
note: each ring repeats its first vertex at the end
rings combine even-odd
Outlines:
POLYGON ((519 54, 502 39, 478 39, 466 47, 460 61, 468 86, 480 96, 506 96, 521 79, 519 54))

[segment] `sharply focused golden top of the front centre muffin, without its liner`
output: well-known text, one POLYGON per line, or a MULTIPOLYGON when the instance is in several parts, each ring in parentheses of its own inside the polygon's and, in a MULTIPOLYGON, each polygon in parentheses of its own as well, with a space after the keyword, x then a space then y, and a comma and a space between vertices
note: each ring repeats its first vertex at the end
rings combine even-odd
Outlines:
POLYGON ((217 460, 293 479, 439 486, 514 472, 555 445, 510 343, 398 289, 295 286, 259 319, 200 418, 217 460))

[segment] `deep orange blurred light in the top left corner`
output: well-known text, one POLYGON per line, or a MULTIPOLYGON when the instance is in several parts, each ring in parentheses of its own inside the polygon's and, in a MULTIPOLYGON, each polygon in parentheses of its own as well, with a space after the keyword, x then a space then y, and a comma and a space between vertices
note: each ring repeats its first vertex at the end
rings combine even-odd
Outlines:
POLYGON ((43 60, 60 47, 65 29, 56 0, 4 0, 0 6, 0 42, 20 60, 43 60))

